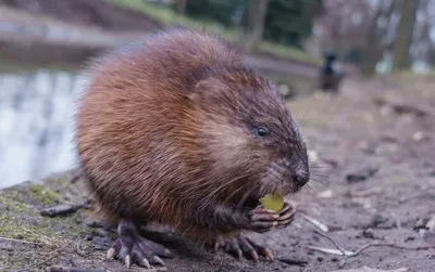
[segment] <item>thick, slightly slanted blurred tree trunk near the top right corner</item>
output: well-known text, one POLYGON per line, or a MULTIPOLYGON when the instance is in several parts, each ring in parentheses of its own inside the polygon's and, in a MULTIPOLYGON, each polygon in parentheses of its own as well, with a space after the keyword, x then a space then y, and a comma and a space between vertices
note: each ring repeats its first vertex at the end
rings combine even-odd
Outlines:
POLYGON ((415 23, 418 0, 403 0, 401 17, 394 47, 393 63, 395 69, 409 68, 409 49, 412 43, 412 31, 415 23))

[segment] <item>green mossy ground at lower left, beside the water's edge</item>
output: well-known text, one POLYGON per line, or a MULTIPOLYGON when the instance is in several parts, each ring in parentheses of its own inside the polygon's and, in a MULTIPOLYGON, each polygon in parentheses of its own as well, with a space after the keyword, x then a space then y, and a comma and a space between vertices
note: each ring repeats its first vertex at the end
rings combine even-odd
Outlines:
POLYGON ((60 261, 90 228, 83 223, 86 210, 72 215, 48 218, 39 213, 45 205, 71 199, 83 200, 79 183, 67 182, 71 174, 51 177, 41 184, 25 183, 0 191, 0 236, 17 241, 0 239, 14 250, 0 254, 0 271, 41 271, 42 267, 60 261), (59 193, 58 193, 59 192, 59 193), (35 245, 36 243, 37 245, 35 245), (67 246, 72 245, 72 246, 67 246), (53 254, 59 258, 50 259, 53 254), (44 265, 38 265, 42 263, 44 265))

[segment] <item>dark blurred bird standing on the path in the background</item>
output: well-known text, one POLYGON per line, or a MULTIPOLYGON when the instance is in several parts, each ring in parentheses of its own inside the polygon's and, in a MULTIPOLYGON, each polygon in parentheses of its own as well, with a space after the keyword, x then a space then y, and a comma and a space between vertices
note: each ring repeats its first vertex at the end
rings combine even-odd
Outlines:
POLYGON ((344 72, 336 66, 336 59, 334 53, 326 53, 324 56, 324 64, 319 76, 319 88, 325 92, 337 93, 345 76, 344 72))

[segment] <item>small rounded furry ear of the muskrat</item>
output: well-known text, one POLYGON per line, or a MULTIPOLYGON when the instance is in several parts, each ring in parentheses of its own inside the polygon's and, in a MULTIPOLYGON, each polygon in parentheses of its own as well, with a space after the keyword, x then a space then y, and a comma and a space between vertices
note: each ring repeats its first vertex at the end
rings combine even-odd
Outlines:
POLYGON ((222 99, 226 86, 216 78, 208 78, 199 81, 188 99, 194 102, 213 102, 222 99))

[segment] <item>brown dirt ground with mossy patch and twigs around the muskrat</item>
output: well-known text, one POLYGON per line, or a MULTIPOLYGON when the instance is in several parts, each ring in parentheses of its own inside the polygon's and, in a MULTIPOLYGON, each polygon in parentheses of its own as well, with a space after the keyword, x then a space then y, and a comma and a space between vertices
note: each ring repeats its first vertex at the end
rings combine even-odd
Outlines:
MULTIPOLYGON (((253 263, 185 247, 165 260, 167 271, 327 272, 363 265, 435 271, 434 83, 434 77, 406 74, 348 80, 338 96, 291 101, 312 151, 312 180, 293 197, 300 212, 290 226, 252 234, 276 260, 253 263)), ((62 271, 49 270, 52 265, 126 271, 119 261, 105 260, 115 235, 89 223, 91 210, 39 215, 44 207, 83 200, 80 182, 67 180, 61 174, 0 193, 1 271, 62 271)), ((133 265, 129 271, 145 270, 133 265)))

